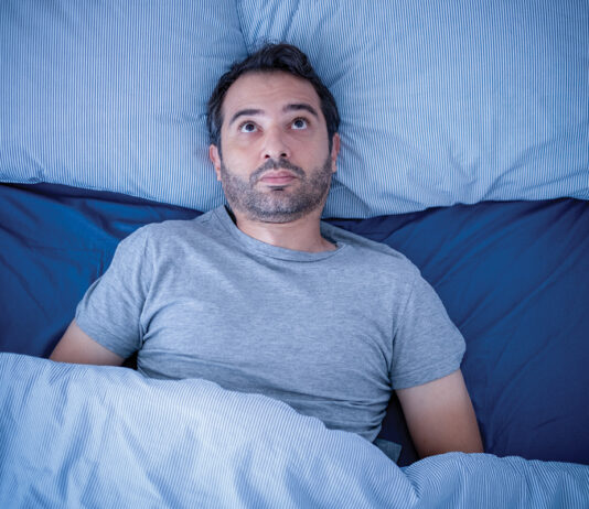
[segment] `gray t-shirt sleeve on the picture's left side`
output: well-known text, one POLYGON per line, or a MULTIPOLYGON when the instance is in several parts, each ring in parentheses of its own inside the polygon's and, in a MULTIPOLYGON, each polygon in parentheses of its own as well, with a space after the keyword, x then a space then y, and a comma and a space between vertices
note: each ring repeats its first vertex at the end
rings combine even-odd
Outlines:
POLYGON ((140 318, 150 269, 147 229, 140 228, 118 245, 108 270, 90 285, 76 308, 77 325, 124 358, 142 344, 140 318))

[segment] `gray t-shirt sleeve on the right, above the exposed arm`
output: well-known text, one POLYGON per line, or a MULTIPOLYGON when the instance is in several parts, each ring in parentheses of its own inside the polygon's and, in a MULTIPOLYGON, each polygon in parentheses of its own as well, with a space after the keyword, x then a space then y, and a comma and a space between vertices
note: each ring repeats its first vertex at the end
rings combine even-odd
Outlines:
POLYGON ((464 350, 462 334, 416 269, 393 339, 393 389, 420 386, 450 375, 460 368, 464 350))

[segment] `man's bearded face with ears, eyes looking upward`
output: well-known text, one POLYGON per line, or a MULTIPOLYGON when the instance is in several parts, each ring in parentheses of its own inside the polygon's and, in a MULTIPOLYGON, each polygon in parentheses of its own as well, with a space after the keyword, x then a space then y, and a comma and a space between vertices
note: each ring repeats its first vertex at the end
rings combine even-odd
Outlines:
POLYGON ((210 156, 227 202, 249 219, 288 223, 322 210, 340 139, 332 150, 313 86, 287 73, 249 73, 227 90, 221 147, 210 156))

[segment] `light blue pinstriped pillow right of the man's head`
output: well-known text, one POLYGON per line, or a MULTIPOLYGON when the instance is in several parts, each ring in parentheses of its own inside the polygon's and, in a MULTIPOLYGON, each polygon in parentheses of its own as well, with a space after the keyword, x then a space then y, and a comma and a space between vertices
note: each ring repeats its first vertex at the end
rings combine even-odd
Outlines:
POLYGON ((248 51, 299 46, 338 101, 342 151, 325 216, 589 198, 588 2, 238 7, 248 51))

